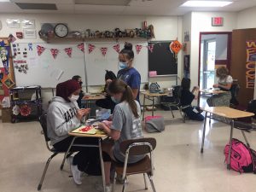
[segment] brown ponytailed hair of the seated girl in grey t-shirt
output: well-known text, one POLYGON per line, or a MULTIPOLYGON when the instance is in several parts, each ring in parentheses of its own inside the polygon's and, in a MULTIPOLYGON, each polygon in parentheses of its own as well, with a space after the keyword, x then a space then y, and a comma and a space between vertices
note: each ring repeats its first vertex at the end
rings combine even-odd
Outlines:
POLYGON ((137 104, 133 99, 133 94, 131 87, 125 84, 124 81, 120 79, 113 80, 110 84, 108 84, 108 92, 110 94, 119 94, 123 93, 123 97, 121 98, 121 102, 128 102, 129 107, 131 108, 131 112, 133 115, 138 118, 139 114, 137 113, 137 104))

